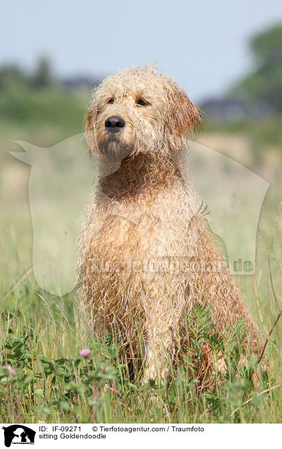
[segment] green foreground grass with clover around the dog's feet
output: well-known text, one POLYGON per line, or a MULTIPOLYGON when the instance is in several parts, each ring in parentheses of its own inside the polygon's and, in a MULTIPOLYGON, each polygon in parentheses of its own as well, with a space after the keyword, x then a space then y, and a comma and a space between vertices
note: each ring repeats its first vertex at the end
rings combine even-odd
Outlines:
POLYGON ((177 371, 171 367, 164 385, 142 385, 140 377, 131 378, 113 336, 103 341, 85 337, 79 323, 73 294, 51 297, 28 274, 6 294, 1 306, 1 366, 6 368, 0 369, 0 421, 281 421, 276 343, 269 342, 264 366, 257 369, 257 359, 242 345, 245 328, 240 321, 226 335, 212 333, 209 307, 195 304, 188 317, 190 350, 177 371), (212 390, 202 390, 197 375, 206 342, 215 359, 223 351, 226 364, 225 373, 214 371, 212 390), (84 347, 90 358, 80 356, 84 347))

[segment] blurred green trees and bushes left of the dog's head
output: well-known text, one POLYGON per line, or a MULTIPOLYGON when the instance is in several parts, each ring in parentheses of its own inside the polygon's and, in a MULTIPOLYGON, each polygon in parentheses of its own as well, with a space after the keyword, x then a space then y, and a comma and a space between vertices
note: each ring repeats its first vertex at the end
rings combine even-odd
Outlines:
POLYGON ((60 79, 46 57, 40 58, 32 71, 16 64, 1 66, 0 124, 63 126, 70 133, 80 132, 90 89, 97 83, 81 76, 60 79))

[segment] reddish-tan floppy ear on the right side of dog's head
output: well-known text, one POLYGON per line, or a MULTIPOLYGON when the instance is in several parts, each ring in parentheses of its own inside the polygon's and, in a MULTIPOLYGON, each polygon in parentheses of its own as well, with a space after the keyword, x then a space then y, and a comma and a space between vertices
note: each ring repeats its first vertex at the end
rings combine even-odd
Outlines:
POLYGON ((175 139, 194 137, 202 128, 200 110, 179 88, 168 96, 167 126, 168 133, 175 139))

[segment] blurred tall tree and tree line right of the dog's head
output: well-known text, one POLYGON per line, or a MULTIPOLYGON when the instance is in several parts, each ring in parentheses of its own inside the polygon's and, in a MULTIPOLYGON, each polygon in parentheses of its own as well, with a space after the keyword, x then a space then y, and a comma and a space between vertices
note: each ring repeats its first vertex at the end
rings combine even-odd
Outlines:
POLYGON ((249 47, 251 73, 221 97, 207 98, 201 104, 213 121, 232 123, 282 113, 282 25, 255 35, 249 47))

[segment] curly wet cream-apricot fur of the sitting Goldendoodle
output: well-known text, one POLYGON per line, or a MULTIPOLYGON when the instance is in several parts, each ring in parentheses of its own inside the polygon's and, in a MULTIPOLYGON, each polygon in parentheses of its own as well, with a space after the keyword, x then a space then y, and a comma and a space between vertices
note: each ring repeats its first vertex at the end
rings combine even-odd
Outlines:
MULTIPOLYGON (((168 361, 187 350, 185 317, 196 301, 212 306, 219 332, 243 318, 245 345, 251 336, 253 352, 259 350, 257 326, 221 265, 178 157, 201 123, 185 92, 154 67, 106 78, 87 112, 86 137, 99 159, 99 179, 80 233, 81 301, 98 335, 118 333, 123 356, 138 357, 144 348, 145 381, 164 378, 168 361), (114 137, 105 128, 113 115, 125 121, 114 137), (207 269, 211 262, 220 268, 207 269)), ((199 376, 209 383, 212 350, 205 346, 202 356, 199 376)))

